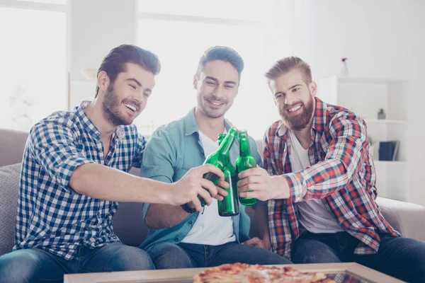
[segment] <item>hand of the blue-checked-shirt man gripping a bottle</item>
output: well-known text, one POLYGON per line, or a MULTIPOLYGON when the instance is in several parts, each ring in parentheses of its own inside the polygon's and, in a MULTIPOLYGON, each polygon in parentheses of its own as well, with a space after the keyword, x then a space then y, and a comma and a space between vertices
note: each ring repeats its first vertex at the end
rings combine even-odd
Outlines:
POLYGON ((224 181, 224 174, 222 171, 211 164, 204 164, 196 168, 191 168, 183 177, 176 183, 171 184, 172 190, 170 191, 169 204, 181 205, 190 203, 189 206, 195 208, 196 211, 200 211, 202 206, 198 195, 202 197, 205 202, 210 205, 212 202, 211 197, 222 200, 222 195, 227 195, 227 192, 221 187, 216 187, 210 180, 203 178, 205 173, 215 173, 220 177, 220 184, 227 185, 224 181), (220 195, 217 195, 220 192, 220 195))

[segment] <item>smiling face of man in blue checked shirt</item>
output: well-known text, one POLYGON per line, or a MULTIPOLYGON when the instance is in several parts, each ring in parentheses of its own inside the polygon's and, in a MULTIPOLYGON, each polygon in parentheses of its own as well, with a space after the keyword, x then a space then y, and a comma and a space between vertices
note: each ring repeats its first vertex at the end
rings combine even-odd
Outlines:
POLYGON ((103 116, 115 127, 130 125, 145 109, 153 87, 154 74, 138 64, 127 63, 126 71, 118 74, 105 91, 103 116))

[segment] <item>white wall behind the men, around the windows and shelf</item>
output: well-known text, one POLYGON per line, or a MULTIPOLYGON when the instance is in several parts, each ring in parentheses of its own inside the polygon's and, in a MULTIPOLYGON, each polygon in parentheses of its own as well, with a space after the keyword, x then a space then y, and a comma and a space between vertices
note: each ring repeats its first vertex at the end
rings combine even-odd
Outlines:
MULTIPOLYGON (((135 43, 136 0, 72 0, 71 106, 94 96, 80 69, 97 68, 111 48, 135 43)), ((348 57, 352 76, 407 79, 409 99, 409 201, 425 205, 422 105, 425 93, 425 1, 275 0, 268 58, 290 54, 310 62, 315 80, 339 74, 348 57), (288 33, 292 30, 292 33, 288 33), (280 31, 280 32, 279 32, 280 31), (290 35, 290 36, 288 36, 290 35), (281 50, 281 55, 277 55, 281 50)), ((268 62, 271 64, 271 61, 268 62)), ((406 188, 407 189, 407 188, 406 188)))

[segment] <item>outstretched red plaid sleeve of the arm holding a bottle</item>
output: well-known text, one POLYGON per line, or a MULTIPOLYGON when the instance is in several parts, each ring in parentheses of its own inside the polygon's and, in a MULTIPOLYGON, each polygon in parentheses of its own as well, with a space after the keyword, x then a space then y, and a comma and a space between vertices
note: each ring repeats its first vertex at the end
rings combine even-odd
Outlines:
POLYGON ((290 200, 322 198, 346 187, 365 158, 368 139, 363 120, 341 113, 330 122, 331 141, 324 161, 303 171, 283 175, 290 186, 290 200))

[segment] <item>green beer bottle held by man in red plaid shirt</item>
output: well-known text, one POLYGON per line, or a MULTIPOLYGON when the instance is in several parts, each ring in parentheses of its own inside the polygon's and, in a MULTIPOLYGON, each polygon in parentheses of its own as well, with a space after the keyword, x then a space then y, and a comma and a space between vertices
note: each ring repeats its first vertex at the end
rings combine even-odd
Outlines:
MULTIPOLYGON (((256 161, 251 156, 251 151, 249 150, 248 133, 245 130, 239 132, 239 144, 240 150, 239 157, 236 160, 236 175, 239 175, 239 173, 246 169, 256 167, 256 161)), ((251 197, 239 197, 239 201, 244 205, 252 205, 256 204, 259 200, 251 197)))

